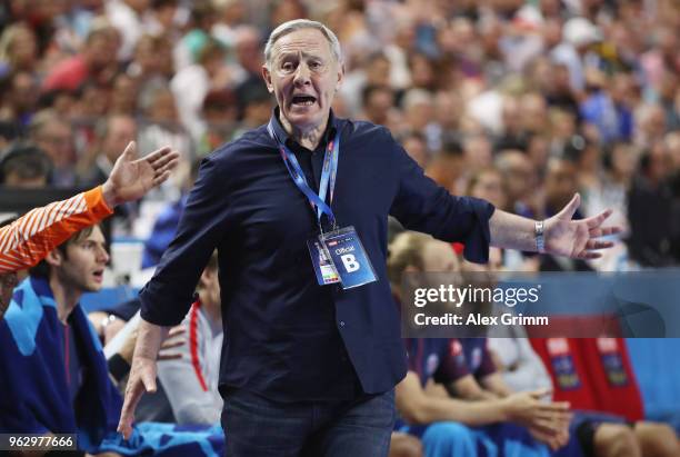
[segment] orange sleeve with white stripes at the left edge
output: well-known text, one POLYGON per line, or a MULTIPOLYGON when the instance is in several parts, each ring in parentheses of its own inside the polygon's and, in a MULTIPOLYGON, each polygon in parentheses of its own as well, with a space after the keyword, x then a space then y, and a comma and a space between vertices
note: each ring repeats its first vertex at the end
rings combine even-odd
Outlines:
POLYGON ((36 208, 0 228, 0 274, 30 268, 84 227, 113 212, 101 186, 36 208))

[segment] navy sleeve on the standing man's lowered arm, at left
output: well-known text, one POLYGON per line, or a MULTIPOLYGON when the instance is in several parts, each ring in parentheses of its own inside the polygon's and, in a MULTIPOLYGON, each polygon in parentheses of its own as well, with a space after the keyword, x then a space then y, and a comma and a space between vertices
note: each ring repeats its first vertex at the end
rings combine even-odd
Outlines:
POLYGON ((216 155, 203 160, 177 235, 140 291, 141 317, 151 324, 176 326, 189 311, 198 279, 223 237, 229 213, 223 168, 216 155))

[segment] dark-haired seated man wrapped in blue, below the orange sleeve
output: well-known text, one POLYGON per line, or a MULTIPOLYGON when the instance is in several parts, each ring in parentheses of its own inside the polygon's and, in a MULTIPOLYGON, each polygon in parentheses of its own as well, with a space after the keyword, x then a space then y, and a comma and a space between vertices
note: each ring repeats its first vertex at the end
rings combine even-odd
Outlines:
POLYGON ((0 367, 11 374, 0 380, 0 429, 77 434, 78 448, 90 454, 219 455, 217 427, 182 433, 147 424, 128 443, 116 433, 122 399, 79 305, 83 292, 101 288, 108 260, 103 235, 91 226, 48 254, 16 289, 0 321, 0 367))

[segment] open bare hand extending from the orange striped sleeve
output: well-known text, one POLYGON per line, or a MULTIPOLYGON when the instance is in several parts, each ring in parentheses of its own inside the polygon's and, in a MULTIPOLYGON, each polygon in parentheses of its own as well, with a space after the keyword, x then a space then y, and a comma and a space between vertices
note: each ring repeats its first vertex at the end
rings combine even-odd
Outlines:
POLYGON ((103 183, 103 197, 110 208, 143 197, 153 187, 163 182, 179 163, 179 152, 170 147, 158 149, 137 158, 137 145, 130 141, 120 155, 109 179, 103 183))

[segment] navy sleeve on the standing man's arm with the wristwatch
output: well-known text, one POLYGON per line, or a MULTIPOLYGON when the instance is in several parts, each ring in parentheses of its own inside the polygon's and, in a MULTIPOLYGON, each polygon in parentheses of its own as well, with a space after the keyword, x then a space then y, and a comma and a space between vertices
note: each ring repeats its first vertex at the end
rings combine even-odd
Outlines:
MULTIPOLYGON (((388 133, 389 135, 389 133, 388 133)), ((407 229, 432 235, 442 241, 464 245, 466 259, 486 264, 489 260, 489 219, 494 207, 472 197, 456 197, 424 176, 422 168, 393 139, 391 158, 398 173, 399 189, 390 215, 407 229)))

